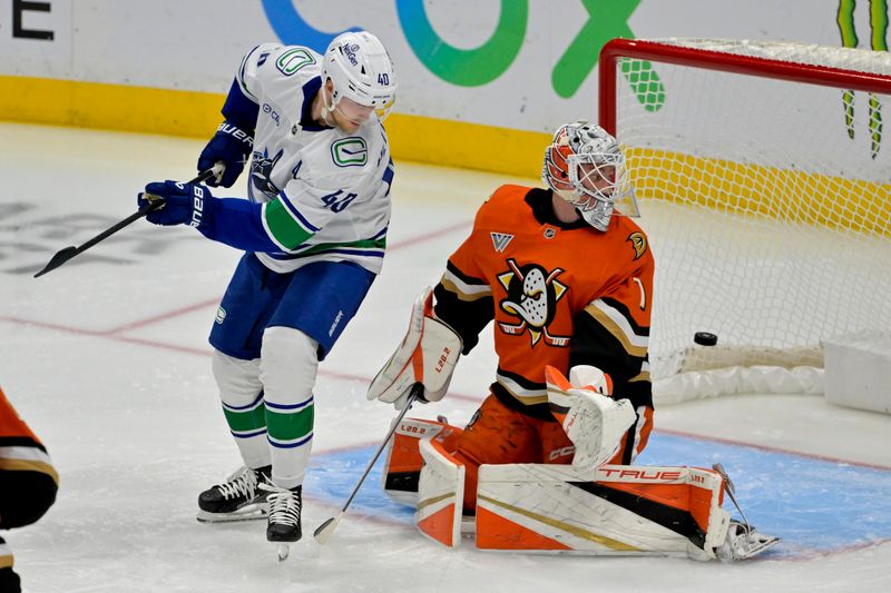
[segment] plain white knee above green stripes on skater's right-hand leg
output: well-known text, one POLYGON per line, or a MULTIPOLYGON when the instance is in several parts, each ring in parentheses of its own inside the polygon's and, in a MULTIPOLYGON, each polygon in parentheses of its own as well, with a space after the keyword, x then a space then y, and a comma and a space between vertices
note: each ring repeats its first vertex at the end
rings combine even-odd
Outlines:
POLYGON ((260 352, 260 379, 267 402, 309 399, 319 368, 319 343, 293 327, 267 327, 260 352))

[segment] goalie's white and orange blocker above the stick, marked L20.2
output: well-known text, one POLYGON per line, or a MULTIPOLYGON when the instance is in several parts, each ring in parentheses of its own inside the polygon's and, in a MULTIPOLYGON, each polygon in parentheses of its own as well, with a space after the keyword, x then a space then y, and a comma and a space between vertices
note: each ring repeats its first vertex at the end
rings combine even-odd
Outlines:
POLYGON ((433 290, 424 288, 411 309, 409 332, 371 382, 369 399, 405 406, 412 385, 422 383, 422 401, 439 402, 461 354, 461 337, 433 315, 433 290))

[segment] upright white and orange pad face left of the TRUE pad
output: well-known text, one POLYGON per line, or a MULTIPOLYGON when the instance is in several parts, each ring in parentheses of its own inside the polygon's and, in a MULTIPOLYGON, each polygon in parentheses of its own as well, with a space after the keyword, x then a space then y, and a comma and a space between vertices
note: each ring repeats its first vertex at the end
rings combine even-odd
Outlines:
POLYGON ((414 523, 434 542, 458 547, 461 543, 464 465, 435 441, 421 441, 419 449, 424 466, 418 484, 414 523))

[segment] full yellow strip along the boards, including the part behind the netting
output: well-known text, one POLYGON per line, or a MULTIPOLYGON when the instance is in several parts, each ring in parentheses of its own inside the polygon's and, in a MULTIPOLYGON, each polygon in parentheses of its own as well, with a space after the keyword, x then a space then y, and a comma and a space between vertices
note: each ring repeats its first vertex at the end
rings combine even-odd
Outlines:
MULTIPOLYGON (((224 99, 213 92, 0 76, 0 118, 27 123, 209 138, 224 99)), ((550 141, 541 132, 407 113, 390 116, 386 129, 396 160, 526 178, 539 176, 550 141)), ((643 148, 628 150, 628 160, 639 199, 891 236, 889 184, 643 148)))

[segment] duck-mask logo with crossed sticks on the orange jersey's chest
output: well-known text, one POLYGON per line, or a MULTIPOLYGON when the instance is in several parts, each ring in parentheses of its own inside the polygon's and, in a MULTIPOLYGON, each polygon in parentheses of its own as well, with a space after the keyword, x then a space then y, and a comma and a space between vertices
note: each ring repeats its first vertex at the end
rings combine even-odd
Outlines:
POLYGON ((499 303, 501 310, 515 317, 520 323, 516 325, 499 322, 498 326, 505 334, 516 336, 527 329, 532 338, 532 346, 544 336, 548 346, 566 347, 569 336, 551 336, 548 324, 554 320, 557 302, 566 295, 568 287, 557 280, 562 274, 561 268, 551 271, 537 264, 518 266, 513 259, 508 259, 508 271, 498 275, 498 281, 508 293, 507 298, 499 303))

